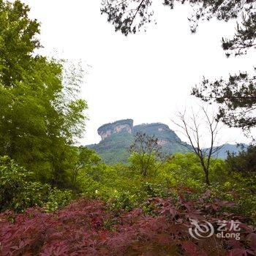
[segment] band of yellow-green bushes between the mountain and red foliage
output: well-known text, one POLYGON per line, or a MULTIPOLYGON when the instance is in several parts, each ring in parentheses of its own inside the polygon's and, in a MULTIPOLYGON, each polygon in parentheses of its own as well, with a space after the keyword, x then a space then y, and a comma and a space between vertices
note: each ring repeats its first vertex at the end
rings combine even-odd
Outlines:
POLYGON ((203 170, 195 154, 175 154, 154 174, 143 177, 133 167, 116 165, 97 167, 83 178, 83 195, 108 202, 113 208, 131 211, 149 197, 176 197, 179 188, 187 188, 191 200, 197 200, 208 189, 211 197, 236 202, 237 214, 256 219, 256 180, 241 173, 229 173, 222 159, 212 159, 209 173, 211 185, 204 184, 203 170))

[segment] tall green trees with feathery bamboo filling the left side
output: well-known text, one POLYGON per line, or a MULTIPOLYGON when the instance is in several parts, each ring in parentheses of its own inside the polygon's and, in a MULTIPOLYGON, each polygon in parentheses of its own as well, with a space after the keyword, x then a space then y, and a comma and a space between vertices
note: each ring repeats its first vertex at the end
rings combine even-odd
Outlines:
POLYGON ((0 155, 59 186, 86 120, 82 73, 36 53, 39 23, 28 15, 20 1, 0 1, 0 155))

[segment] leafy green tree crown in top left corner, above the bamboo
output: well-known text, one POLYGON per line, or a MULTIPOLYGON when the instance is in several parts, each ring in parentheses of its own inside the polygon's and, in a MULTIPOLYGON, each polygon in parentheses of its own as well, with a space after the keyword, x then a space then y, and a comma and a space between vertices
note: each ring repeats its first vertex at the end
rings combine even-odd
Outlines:
POLYGON ((39 23, 28 18, 29 7, 20 1, 0 1, 0 72, 1 83, 15 87, 24 71, 33 67, 31 58, 40 47, 39 23))

